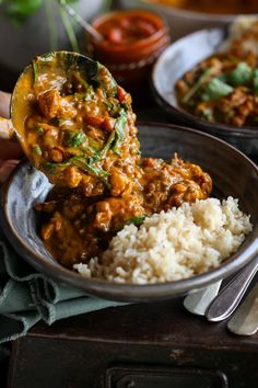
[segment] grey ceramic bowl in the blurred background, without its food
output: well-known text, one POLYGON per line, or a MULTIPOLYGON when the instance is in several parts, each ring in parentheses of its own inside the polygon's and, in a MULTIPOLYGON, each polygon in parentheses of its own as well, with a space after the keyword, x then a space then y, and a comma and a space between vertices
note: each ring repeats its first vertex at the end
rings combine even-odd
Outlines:
POLYGON ((223 28, 201 30, 168 46, 157 59, 152 72, 152 89, 159 105, 178 123, 203 130, 237 147, 251 157, 258 157, 258 127, 238 128, 209 123, 178 106, 175 83, 199 61, 218 52, 225 39, 223 28))

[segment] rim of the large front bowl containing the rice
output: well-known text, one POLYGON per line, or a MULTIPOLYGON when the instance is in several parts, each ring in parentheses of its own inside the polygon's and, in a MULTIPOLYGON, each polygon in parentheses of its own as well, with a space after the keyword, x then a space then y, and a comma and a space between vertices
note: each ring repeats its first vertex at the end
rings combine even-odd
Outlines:
MULTIPOLYGON (((183 130, 189 134, 196 134, 200 137, 212 138, 218 145, 221 144, 223 147, 231 148, 235 153, 241 155, 242 158, 254 169, 254 172, 258 174, 258 167, 247 158, 243 152, 238 151, 235 147, 228 145, 227 142, 208 135, 200 130, 192 128, 181 127, 173 124, 164 123, 149 123, 141 122, 138 123, 138 127, 149 126, 149 127, 163 127, 167 129, 183 130)), ((75 288, 80 288, 85 292, 86 295, 98 296, 109 300, 119 301, 154 301, 154 300, 165 300, 171 299, 175 296, 184 295, 188 292, 194 292, 196 289, 202 288, 215 281, 227 277, 236 271, 241 270, 245 264, 254 259, 258 252, 258 233, 255 236, 254 241, 250 242, 246 249, 243 250, 241 247, 237 252, 233 253, 227 262, 222 263, 216 269, 202 273, 200 275, 195 275, 185 279, 167 283, 155 283, 155 284, 117 284, 108 281, 95 279, 95 278, 84 278, 79 273, 71 270, 67 270, 60 264, 54 264, 49 260, 46 260, 43 254, 37 254, 31 246, 26 246, 19 236, 9 218, 8 210, 8 193, 13 183, 15 174, 20 171, 23 166, 31 166, 30 162, 24 159, 16 166, 8 181, 2 186, 1 206, 0 206, 0 219, 2 221, 3 232, 8 240, 11 242, 13 249, 22 254, 22 258, 31 264, 34 269, 48 275, 50 278, 60 282, 61 284, 70 285, 75 288), (228 261, 230 260, 230 261, 228 261), (57 266, 58 265, 58 266, 57 266), (58 271, 57 271, 58 270, 58 271), (226 275, 226 276, 225 276, 226 275), (172 288, 173 287, 173 288, 172 288)), ((258 227, 258 226, 257 226, 258 227)))

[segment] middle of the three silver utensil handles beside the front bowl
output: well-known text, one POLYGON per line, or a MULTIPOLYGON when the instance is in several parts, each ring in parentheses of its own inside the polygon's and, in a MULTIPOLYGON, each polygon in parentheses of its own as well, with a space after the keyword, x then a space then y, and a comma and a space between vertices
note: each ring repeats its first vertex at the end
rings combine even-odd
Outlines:
POLYGON ((257 270, 258 255, 213 299, 206 311, 209 321, 219 322, 230 317, 238 306, 257 270))

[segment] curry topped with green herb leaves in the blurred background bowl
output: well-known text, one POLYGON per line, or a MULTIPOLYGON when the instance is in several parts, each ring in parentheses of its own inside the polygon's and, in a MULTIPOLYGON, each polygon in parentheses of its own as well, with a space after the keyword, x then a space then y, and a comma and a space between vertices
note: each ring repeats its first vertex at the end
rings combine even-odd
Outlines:
POLYGON ((175 84, 180 107, 211 123, 258 125, 258 21, 239 19, 222 49, 175 84), (243 28, 243 31, 242 31, 243 28), (223 49, 224 46, 224 49, 223 49))

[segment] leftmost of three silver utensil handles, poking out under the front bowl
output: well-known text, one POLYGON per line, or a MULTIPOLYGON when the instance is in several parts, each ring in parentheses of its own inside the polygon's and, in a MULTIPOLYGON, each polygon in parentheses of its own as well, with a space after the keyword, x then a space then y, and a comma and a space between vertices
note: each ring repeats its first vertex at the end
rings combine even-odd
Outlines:
POLYGON ((189 294, 183 303, 185 308, 197 316, 204 316, 207 307, 219 293, 221 282, 212 283, 209 287, 189 294))

